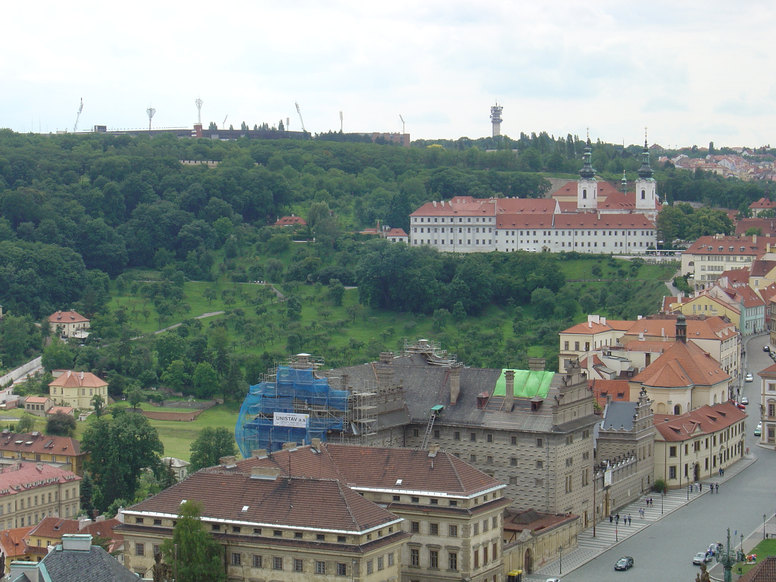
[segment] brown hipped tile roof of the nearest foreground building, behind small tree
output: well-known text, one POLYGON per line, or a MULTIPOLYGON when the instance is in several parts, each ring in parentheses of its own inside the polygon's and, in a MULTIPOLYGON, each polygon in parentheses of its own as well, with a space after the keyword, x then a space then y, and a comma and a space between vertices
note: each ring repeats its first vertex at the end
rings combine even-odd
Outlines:
POLYGON ((366 500, 344 481, 330 477, 255 479, 250 473, 218 469, 193 473, 126 511, 178 515, 183 501, 194 500, 203 504, 205 521, 351 533, 397 520, 394 514, 366 500))

